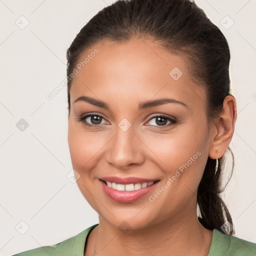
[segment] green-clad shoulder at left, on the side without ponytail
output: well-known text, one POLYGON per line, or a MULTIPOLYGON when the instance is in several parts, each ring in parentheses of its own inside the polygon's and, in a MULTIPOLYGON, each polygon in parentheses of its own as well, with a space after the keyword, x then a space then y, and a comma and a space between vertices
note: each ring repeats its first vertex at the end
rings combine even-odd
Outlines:
POLYGON ((83 256, 83 250, 88 233, 98 224, 94 224, 80 233, 54 245, 42 246, 19 252, 12 256, 83 256))

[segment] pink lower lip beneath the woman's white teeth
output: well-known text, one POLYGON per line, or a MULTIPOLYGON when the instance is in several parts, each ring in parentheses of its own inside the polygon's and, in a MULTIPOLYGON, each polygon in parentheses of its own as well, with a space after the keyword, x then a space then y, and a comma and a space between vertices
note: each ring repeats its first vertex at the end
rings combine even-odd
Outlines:
POLYGON ((120 191, 107 186, 102 180, 99 180, 99 181, 106 195, 108 195, 108 197, 110 197, 111 199, 117 202, 133 202, 143 197, 148 192, 150 192, 159 182, 159 181, 156 181, 150 186, 133 190, 133 191, 120 191))

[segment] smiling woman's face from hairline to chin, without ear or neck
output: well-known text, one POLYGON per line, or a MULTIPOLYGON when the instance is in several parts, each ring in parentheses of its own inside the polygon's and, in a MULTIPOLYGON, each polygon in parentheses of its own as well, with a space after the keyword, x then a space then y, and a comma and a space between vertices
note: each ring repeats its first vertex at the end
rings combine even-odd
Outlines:
POLYGON ((211 126, 205 91, 193 83, 186 59, 142 39, 96 44, 79 61, 87 54, 93 57, 72 81, 68 119, 70 156, 83 196, 116 227, 126 221, 131 229, 143 228, 196 214, 211 126), (81 96, 86 100, 77 100, 81 96), (163 98, 168 100, 155 101, 163 98), (109 176, 158 181, 141 188, 142 196, 136 189, 136 199, 118 200, 100 181, 109 176))

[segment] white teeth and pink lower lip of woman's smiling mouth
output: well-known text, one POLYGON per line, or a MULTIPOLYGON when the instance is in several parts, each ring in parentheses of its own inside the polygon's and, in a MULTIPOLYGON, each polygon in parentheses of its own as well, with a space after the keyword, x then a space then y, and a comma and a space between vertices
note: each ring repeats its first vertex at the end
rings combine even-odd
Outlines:
POLYGON ((119 184, 99 179, 105 194, 114 201, 128 203, 144 197, 152 191, 159 180, 143 183, 119 184))

